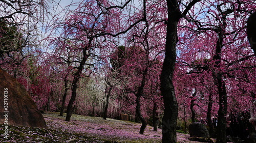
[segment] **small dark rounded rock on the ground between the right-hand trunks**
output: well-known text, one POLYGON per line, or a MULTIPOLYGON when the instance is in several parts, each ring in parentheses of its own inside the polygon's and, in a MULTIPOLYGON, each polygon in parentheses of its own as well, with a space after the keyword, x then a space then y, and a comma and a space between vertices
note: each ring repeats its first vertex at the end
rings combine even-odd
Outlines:
POLYGON ((209 131, 206 129, 204 124, 200 122, 192 123, 188 126, 188 131, 190 136, 196 137, 210 137, 209 131))

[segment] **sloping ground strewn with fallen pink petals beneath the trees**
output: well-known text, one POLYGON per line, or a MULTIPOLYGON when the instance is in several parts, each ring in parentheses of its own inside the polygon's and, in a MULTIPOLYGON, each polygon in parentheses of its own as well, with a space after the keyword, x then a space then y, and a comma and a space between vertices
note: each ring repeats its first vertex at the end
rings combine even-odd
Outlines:
MULTIPOLYGON (((8 139, 4 138, 4 125, 0 126, 0 142, 161 142, 161 130, 147 126, 144 135, 139 134, 140 124, 99 117, 72 115, 66 122, 59 112, 43 114, 48 129, 8 126, 8 139)), ((177 133, 178 142, 188 140, 189 135, 177 133)))

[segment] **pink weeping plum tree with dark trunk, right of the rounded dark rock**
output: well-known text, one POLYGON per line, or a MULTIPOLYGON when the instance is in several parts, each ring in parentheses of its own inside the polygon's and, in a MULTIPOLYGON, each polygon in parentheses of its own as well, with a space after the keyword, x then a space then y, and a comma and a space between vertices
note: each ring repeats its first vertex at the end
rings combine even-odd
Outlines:
MULTIPOLYGON (((226 84, 228 83, 229 86, 235 87, 234 84, 231 85, 233 80, 237 78, 233 75, 233 71, 236 70, 238 73, 244 73, 244 70, 235 67, 253 60, 253 55, 250 54, 251 51, 247 48, 248 44, 245 42, 244 36, 244 17, 246 17, 248 13, 246 14, 243 12, 245 9, 250 11, 251 7, 242 7, 242 5, 247 4, 249 6, 252 3, 248 1, 218 1, 216 4, 208 4, 210 3, 205 3, 204 7, 209 8, 207 13, 211 16, 206 16, 206 18, 203 18, 202 22, 198 20, 196 24, 190 24, 191 27, 187 29, 188 32, 191 31, 191 33, 187 33, 188 37, 193 38, 193 35, 195 34, 197 35, 196 39, 200 39, 197 42, 195 40, 194 43, 187 43, 187 45, 191 44, 188 46, 191 48, 189 49, 191 52, 187 53, 191 55, 191 53, 194 52, 194 58, 200 58, 201 56, 201 59, 205 58, 207 60, 205 62, 203 62, 204 60, 201 60, 202 62, 200 62, 200 64, 188 65, 190 68, 197 69, 195 72, 200 73, 201 75, 203 75, 202 73, 205 71, 208 72, 208 75, 211 74, 212 79, 214 79, 214 84, 216 85, 215 88, 216 91, 218 91, 219 98, 217 142, 226 142, 227 98, 228 94, 231 92, 226 88, 226 84), (244 15, 244 17, 241 17, 241 14, 244 15), (218 22, 212 22, 213 20, 211 19, 216 19, 218 22), (215 34, 212 35, 212 32, 215 34), (197 46, 198 48, 193 49, 193 47, 197 46), (239 48, 236 49, 235 47, 239 48)), ((195 15, 195 17, 201 17, 201 15, 195 15)), ((187 63, 193 61, 191 60, 193 56, 185 56, 187 58, 187 63), (188 59, 190 59, 190 61, 188 59)), ((244 67, 249 68, 250 65, 244 65, 244 67)), ((250 90, 253 90, 253 88, 250 90)), ((248 93, 250 93, 250 90, 248 93)), ((246 94, 244 93, 242 95, 246 94)), ((209 94, 209 96, 212 96, 212 94, 209 94)), ((232 94, 232 96, 241 96, 241 94, 236 93, 232 94)), ((209 97, 209 103, 211 99, 212 97, 209 97)), ((211 104, 208 105, 209 107, 211 106, 211 104)))

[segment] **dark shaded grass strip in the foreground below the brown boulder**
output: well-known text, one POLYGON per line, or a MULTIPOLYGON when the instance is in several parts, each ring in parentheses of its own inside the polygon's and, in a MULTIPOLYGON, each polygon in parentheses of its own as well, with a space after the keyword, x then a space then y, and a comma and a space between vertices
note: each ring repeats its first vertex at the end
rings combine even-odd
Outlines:
POLYGON ((78 140, 77 142, 103 142, 97 138, 87 137, 82 134, 10 125, 8 125, 9 136, 6 139, 2 133, 5 126, 0 125, 0 142, 66 142, 72 138, 76 138, 78 140))

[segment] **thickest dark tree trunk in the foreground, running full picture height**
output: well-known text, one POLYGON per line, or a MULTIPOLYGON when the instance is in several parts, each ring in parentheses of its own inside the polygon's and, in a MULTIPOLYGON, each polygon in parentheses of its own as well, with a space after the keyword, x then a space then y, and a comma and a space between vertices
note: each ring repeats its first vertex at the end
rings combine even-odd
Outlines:
POLYGON ((165 58, 161 72, 161 94, 164 101, 164 116, 162 119, 162 142, 177 142, 176 126, 178 118, 178 103, 173 84, 173 74, 176 62, 177 25, 180 20, 177 1, 168 0, 168 21, 165 43, 165 58))

